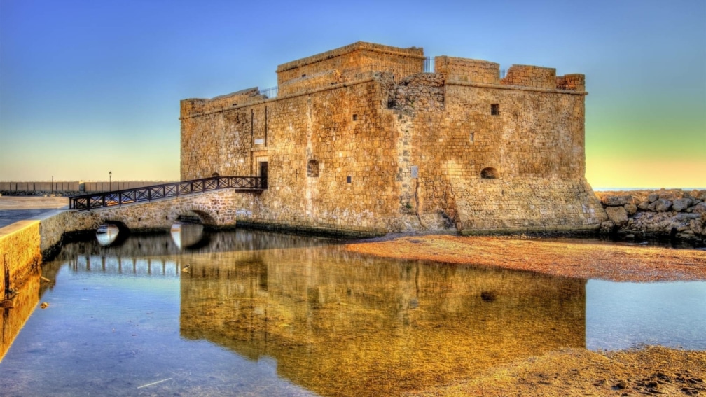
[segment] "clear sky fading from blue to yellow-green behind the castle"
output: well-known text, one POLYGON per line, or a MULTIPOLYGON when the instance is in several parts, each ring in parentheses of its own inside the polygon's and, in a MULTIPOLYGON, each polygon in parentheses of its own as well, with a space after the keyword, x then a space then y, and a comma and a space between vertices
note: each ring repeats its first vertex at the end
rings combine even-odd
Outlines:
POLYGON ((594 188, 706 186, 706 0, 0 0, 0 180, 179 179, 179 100, 359 40, 584 73, 594 188))

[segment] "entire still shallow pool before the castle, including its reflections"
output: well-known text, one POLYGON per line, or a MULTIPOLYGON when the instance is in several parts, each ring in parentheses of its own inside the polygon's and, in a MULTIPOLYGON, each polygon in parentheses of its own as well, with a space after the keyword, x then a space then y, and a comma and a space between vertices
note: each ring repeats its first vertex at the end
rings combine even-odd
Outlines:
POLYGON ((197 240, 64 247, 43 268, 54 283, 37 279, 4 309, 6 344, 23 302, 33 312, 0 362, 0 390, 399 395, 561 348, 706 350, 703 282, 371 259, 330 240, 240 230, 197 240))

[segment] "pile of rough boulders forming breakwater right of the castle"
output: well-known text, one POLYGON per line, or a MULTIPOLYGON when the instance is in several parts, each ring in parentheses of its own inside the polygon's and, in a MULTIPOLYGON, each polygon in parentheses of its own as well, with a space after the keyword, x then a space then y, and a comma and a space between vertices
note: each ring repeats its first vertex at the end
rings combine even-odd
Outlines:
POLYGON ((706 241, 706 190, 602 191, 596 196, 609 218, 602 233, 706 241))

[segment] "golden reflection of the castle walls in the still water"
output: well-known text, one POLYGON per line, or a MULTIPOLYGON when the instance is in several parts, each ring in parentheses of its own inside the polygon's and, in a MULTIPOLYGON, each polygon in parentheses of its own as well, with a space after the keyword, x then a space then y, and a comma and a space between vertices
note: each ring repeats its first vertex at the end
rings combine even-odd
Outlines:
POLYGON ((189 259, 181 334, 324 396, 396 395, 585 345, 585 281, 330 249, 189 259))

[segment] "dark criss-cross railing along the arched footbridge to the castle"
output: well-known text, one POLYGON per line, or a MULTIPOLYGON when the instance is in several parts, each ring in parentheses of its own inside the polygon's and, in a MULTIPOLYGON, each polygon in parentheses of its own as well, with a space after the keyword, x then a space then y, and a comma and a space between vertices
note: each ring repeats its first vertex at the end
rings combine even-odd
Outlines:
POLYGON ((142 203, 159 198, 179 197, 185 194, 203 193, 217 189, 238 191, 263 191, 267 189, 267 178, 261 177, 210 177, 190 181, 155 184, 136 189, 103 191, 95 194, 82 194, 68 198, 68 208, 90 211, 93 208, 122 206, 142 203))

